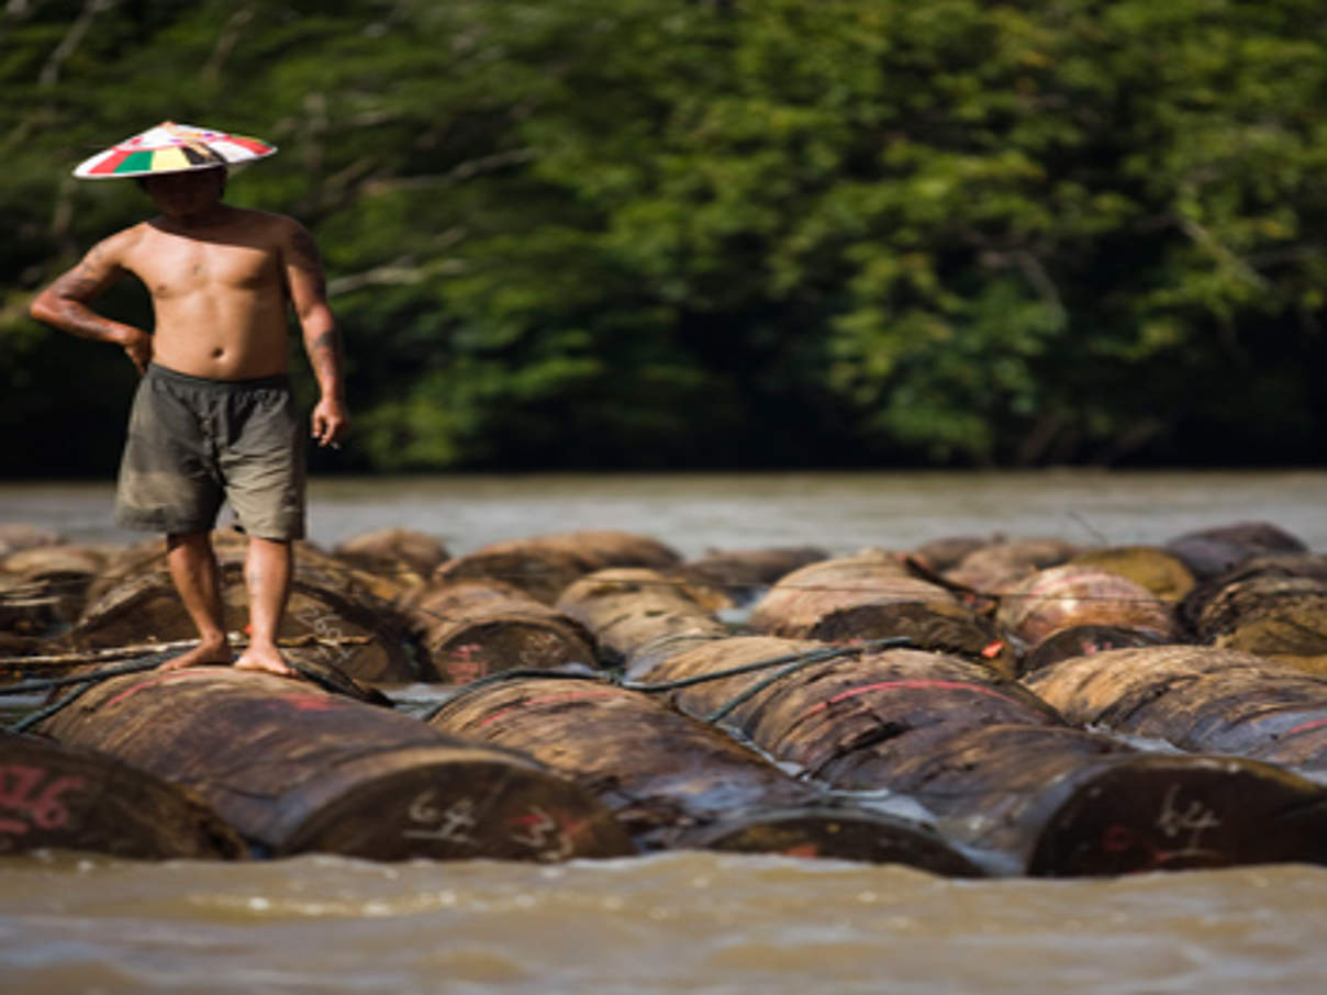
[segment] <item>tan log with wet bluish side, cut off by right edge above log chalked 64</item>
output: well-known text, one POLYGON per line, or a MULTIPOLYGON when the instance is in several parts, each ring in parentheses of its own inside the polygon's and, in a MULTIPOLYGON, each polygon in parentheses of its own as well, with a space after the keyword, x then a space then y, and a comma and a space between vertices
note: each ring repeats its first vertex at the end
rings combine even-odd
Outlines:
POLYGON ((1327 768, 1327 679, 1210 646, 1074 657, 1024 683, 1079 726, 1162 739, 1182 750, 1327 768))

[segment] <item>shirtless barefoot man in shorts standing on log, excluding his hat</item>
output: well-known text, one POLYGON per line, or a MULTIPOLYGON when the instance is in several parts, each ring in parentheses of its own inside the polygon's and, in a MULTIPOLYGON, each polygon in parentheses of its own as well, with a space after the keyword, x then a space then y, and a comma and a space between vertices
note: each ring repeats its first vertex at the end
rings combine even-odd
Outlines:
POLYGON ((121 346, 143 374, 115 499, 126 528, 166 533, 166 559, 199 645, 163 663, 230 663, 211 529, 223 498, 248 535, 249 643, 238 669, 293 675, 276 646, 304 535, 303 430, 287 383, 293 308, 321 398, 313 438, 349 427, 342 354, 322 265, 295 220, 222 203, 226 167, 139 180, 161 210, 105 239, 32 302, 65 332, 121 346), (89 302, 125 273, 151 295, 151 333, 89 302))

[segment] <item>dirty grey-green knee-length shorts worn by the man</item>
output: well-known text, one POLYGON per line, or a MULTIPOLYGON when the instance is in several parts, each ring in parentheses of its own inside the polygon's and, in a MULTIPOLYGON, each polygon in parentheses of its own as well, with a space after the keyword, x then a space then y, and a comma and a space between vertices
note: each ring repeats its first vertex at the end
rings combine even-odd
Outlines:
POLYGON ((115 524, 207 532, 223 500, 251 536, 304 537, 304 432, 289 381, 207 379, 150 365, 129 415, 115 524))

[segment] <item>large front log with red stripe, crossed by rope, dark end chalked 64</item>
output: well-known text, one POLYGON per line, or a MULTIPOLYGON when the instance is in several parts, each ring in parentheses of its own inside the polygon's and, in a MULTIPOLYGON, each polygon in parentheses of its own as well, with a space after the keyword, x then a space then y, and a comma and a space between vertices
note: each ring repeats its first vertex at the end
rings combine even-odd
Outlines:
MULTIPOLYGON (((644 679, 731 673, 795 646, 715 642, 679 653, 644 679)), ((1071 728, 1039 698, 977 663, 889 650, 779 673, 772 683, 760 673, 721 677, 671 698, 805 777, 916 797, 946 836, 977 848, 993 873, 1327 858, 1327 809, 1316 785, 1238 760, 1147 755, 1071 728), (1279 834, 1273 841, 1262 840, 1269 825, 1279 834)))

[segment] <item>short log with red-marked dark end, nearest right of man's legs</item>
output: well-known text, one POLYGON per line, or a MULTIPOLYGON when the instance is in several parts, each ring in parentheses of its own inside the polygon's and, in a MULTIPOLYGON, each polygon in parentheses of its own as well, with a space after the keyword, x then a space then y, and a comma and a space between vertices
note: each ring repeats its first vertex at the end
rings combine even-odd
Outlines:
POLYGON ((438 679, 463 685, 503 670, 594 665, 580 622, 499 581, 430 588, 409 602, 438 679))

